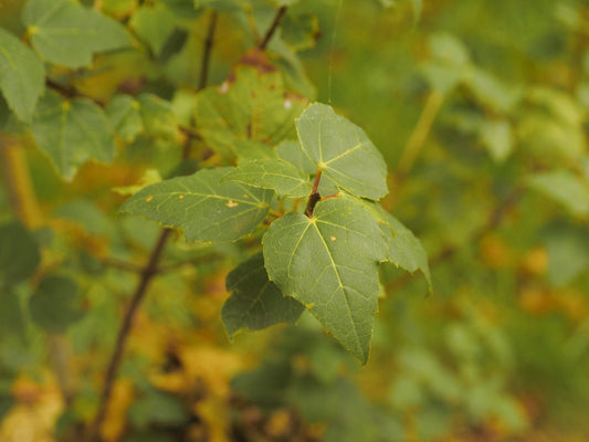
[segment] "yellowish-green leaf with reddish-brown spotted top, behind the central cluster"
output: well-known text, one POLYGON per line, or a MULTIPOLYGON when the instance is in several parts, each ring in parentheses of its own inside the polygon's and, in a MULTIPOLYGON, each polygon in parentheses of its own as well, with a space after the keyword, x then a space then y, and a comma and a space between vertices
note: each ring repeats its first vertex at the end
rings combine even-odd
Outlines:
POLYGON ((207 145, 231 158, 239 140, 273 146, 294 138, 293 120, 303 106, 302 98, 285 93, 277 72, 260 74, 253 67, 239 66, 234 83, 199 94, 194 120, 207 145))

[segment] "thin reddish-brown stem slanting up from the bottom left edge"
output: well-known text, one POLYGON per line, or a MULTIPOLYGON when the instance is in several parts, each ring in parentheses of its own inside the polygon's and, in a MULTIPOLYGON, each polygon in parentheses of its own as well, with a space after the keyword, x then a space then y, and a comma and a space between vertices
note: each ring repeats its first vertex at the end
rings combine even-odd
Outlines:
POLYGON ((141 276, 139 278, 135 293, 133 294, 127 311, 125 312, 120 329, 118 330, 115 348, 113 350, 113 354, 111 355, 108 368, 106 369, 104 386, 98 402, 98 411, 96 412, 96 417, 94 418, 94 421, 90 424, 86 433, 85 440, 87 442, 95 442, 99 440, 99 429, 106 417, 108 402, 113 394, 115 379, 118 373, 118 369, 120 368, 120 362, 123 361, 123 355, 125 352, 127 338, 133 327, 133 320, 139 308, 139 305, 141 304, 141 301, 144 299, 147 293, 149 283, 157 274, 159 260, 161 259, 161 254, 164 252, 164 249, 166 248, 166 243, 171 233, 171 229, 164 229, 161 231, 156 242, 156 245, 154 246, 154 250, 149 255, 149 260, 147 261, 147 264, 145 265, 141 272, 141 276))

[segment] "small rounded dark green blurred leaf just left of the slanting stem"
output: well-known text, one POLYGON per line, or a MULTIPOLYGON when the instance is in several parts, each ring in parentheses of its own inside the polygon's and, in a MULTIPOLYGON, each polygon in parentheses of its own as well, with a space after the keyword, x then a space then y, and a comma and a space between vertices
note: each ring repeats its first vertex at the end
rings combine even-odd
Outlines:
POLYGON ((84 315, 81 309, 78 286, 63 275, 50 275, 39 283, 29 299, 34 323, 45 332, 63 333, 84 315))

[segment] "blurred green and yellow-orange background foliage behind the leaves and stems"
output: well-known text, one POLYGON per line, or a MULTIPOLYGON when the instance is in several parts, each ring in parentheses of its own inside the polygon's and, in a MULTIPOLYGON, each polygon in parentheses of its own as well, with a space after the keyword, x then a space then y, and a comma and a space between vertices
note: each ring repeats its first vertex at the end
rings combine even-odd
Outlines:
MULTIPOLYGON (((22 3, 0 2, 2 27, 18 34, 22 3)), ((231 1, 203 0, 201 10, 192 0, 83 3, 123 21, 136 44, 98 55, 69 81, 106 103, 117 91, 155 93, 179 122, 199 86, 208 7, 219 10, 211 85, 276 11, 262 0, 243 2, 249 15, 232 13, 231 1)), ((433 294, 419 276, 382 272, 362 368, 306 316, 229 344, 224 277, 252 250, 178 238, 136 322, 103 438, 587 440, 589 2, 280 3, 293 4, 269 59, 292 92, 330 103, 382 151, 383 206, 423 241, 433 294)), ((113 165, 87 164, 72 183, 27 148, 46 220, 34 235, 42 254, 29 257, 75 275, 77 286, 59 294, 67 305, 60 317, 48 316, 39 294, 51 293, 55 276, 2 294, 3 441, 75 440, 94 413, 135 283, 108 256, 140 262, 158 234, 117 218, 126 190, 112 188, 135 185, 148 168, 167 177, 179 167, 180 137, 161 124, 168 114, 155 115, 159 126, 132 130, 113 165)), ((0 191, 7 215, 8 200, 0 191)), ((3 229, 27 241, 18 224, 3 229)))

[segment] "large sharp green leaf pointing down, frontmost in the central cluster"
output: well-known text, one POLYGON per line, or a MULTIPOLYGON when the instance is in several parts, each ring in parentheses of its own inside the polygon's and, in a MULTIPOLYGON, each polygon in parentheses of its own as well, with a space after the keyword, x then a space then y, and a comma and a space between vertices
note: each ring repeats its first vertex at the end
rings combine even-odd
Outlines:
POLYGON ((274 221, 262 242, 270 280, 366 364, 378 263, 387 260, 372 217, 351 201, 330 198, 317 203, 313 218, 290 212, 274 221))

